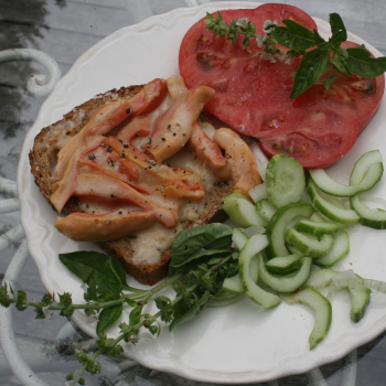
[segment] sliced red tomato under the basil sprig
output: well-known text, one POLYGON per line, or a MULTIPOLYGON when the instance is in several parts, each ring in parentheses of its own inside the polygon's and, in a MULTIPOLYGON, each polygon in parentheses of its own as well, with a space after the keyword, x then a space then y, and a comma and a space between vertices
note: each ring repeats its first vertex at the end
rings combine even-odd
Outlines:
MULTIPOLYGON (((216 13, 214 14, 216 15, 216 13)), ((225 22, 247 18, 262 33, 266 20, 292 19, 310 30, 313 20, 298 8, 285 4, 264 4, 254 10, 222 11, 225 22)), ((325 168, 340 160, 355 143, 358 129, 371 119, 376 103, 367 100, 367 79, 346 83, 342 75, 325 92, 320 81, 303 95, 290 99, 293 74, 300 60, 286 64, 261 58, 262 49, 251 42, 250 53, 243 50, 242 36, 232 45, 199 21, 184 36, 180 49, 180 72, 189 88, 207 85, 216 89, 205 108, 235 130, 255 137, 269 156, 287 153, 304 168, 325 168), (349 87, 350 93, 345 87, 349 87), (357 95, 360 94, 360 96, 357 95), (333 95, 333 97, 332 97, 333 95), (347 96, 347 97, 345 97, 347 96)), ((380 85, 375 84, 380 93, 380 85)))

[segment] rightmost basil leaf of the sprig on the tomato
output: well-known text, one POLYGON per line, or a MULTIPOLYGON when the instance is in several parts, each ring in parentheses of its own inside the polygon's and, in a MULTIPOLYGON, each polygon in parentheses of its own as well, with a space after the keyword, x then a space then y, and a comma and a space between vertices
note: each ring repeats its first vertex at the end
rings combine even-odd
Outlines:
POLYGON ((347 65, 351 72, 362 77, 375 77, 386 71, 386 57, 372 57, 364 45, 347 49, 347 65))

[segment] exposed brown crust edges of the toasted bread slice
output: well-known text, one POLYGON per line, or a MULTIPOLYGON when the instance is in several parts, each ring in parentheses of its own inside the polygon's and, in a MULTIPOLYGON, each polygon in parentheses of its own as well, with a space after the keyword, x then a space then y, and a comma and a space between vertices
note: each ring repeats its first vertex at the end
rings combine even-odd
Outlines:
MULTIPOLYGON (((75 107, 63 119, 43 128, 35 137, 34 146, 29 154, 31 172, 34 175, 36 185, 50 204, 50 196, 53 184, 55 183, 53 171, 58 150, 82 129, 96 109, 117 99, 131 98, 142 87, 143 85, 121 87, 99 94, 93 99, 75 107)), ((203 199, 204 204, 200 217, 196 221, 181 223, 182 228, 186 229, 211 222, 224 221, 226 215, 222 211, 221 204, 225 196, 230 193, 230 184, 227 182, 215 183, 203 199)), ((81 205, 76 197, 72 197, 63 208, 63 213, 65 214, 81 211, 81 205)), ((135 235, 129 235, 117 240, 97 244, 108 255, 117 258, 124 265, 126 271, 139 282, 150 286, 154 285, 168 275, 171 249, 169 248, 163 251, 161 259, 157 264, 133 261, 131 259, 133 254, 131 240, 135 237, 135 235)))

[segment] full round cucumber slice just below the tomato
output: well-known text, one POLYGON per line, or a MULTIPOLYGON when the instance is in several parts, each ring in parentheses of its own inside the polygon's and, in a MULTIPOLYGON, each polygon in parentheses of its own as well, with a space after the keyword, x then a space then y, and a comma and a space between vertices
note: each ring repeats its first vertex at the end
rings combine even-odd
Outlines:
POLYGON ((296 203, 305 187, 303 167, 286 154, 274 156, 267 167, 266 184, 268 200, 277 207, 296 203))

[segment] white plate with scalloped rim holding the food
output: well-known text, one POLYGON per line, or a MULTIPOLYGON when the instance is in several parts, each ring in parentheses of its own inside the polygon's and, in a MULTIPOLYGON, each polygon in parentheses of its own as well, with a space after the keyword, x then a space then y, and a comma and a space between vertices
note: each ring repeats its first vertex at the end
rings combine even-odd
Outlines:
MULTIPOLYGON (((22 225, 31 255, 42 280, 50 291, 71 291, 81 302, 79 281, 58 261, 58 253, 96 249, 92 244, 74 243, 53 227, 56 214, 39 192, 28 160, 33 139, 42 127, 62 118, 74 106, 98 93, 125 85, 143 84, 156 77, 178 74, 178 52, 182 36, 205 12, 217 9, 254 8, 250 2, 216 2, 199 8, 178 9, 150 18, 140 24, 119 30, 87 51, 64 76, 46 99, 36 122, 26 136, 19 165, 18 187, 22 225)), ((322 35, 329 25, 317 20, 322 35)), ((349 39, 363 43, 349 34, 349 39)), ((375 49, 366 44, 376 55, 375 49)), ((367 150, 382 147, 386 157, 385 98, 375 118, 361 135, 350 153, 331 173, 347 176, 354 161, 367 150)), ((386 193, 385 181, 377 195, 386 193)), ((350 227, 351 253, 339 268, 353 268, 358 275, 385 280, 386 232, 360 225, 350 227)), ((132 283, 132 279, 131 280, 132 283)), ((326 339, 312 352, 308 336, 312 330, 312 313, 302 305, 280 304, 265 310, 248 299, 224 308, 207 308, 192 323, 161 336, 147 333, 127 355, 142 365, 171 372, 186 378, 217 383, 264 382, 339 360, 380 334, 386 329, 386 298, 372 296, 363 321, 350 321, 350 298, 345 293, 332 300, 333 320, 326 339)), ((95 326, 87 324, 79 312, 74 321, 88 334, 95 326)), ((110 334, 117 334, 116 328, 110 334)))

